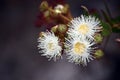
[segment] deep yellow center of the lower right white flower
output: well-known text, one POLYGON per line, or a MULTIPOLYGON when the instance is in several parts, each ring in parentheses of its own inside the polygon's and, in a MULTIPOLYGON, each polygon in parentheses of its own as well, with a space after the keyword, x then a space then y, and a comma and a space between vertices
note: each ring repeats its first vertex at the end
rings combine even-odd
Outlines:
POLYGON ((75 43, 73 50, 76 54, 83 54, 84 50, 85 50, 85 45, 83 43, 77 42, 75 43))

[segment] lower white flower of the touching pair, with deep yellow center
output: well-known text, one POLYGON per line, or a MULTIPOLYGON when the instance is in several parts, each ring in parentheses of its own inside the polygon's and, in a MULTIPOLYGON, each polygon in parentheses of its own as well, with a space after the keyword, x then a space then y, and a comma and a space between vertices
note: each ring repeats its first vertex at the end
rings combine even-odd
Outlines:
POLYGON ((68 55, 69 62, 87 65, 87 62, 93 60, 91 55, 95 48, 91 47, 95 43, 88 38, 80 36, 67 39, 65 42, 65 53, 68 55))

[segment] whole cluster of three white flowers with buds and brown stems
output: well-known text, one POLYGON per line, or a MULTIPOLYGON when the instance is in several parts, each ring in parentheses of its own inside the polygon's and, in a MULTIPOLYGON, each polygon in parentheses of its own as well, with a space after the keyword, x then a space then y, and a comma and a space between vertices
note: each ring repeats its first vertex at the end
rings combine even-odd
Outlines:
POLYGON ((46 9, 58 14, 57 16, 66 22, 60 21, 61 23, 53 26, 51 31, 40 33, 38 48, 42 56, 56 61, 64 53, 69 62, 82 65, 87 65, 90 60, 101 57, 103 53, 96 47, 96 44, 102 41, 100 20, 91 15, 72 18, 68 15, 69 10, 64 13, 64 9, 61 4, 46 9))

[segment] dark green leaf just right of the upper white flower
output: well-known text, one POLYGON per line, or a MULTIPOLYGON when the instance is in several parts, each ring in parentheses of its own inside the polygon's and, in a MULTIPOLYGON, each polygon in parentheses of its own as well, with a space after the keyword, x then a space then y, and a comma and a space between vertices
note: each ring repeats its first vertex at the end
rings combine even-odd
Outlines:
POLYGON ((102 23, 102 27, 103 27, 103 31, 102 31, 102 35, 103 36, 108 36, 110 35, 111 31, 111 26, 108 23, 105 22, 101 22, 102 23))

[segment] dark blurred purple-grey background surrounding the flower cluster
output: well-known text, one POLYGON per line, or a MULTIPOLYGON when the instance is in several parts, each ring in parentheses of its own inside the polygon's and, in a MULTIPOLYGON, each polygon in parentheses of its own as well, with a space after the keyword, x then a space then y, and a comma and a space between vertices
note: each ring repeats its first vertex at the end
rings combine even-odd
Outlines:
MULTIPOLYGON (((103 0, 66 0, 74 17, 81 5, 105 9, 103 0)), ((106 0, 113 17, 120 14, 119 0, 106 0)), ((0 1, 0 80, 120 80, 120 37, 112 33, 105 55, 87 67, 69 63, 66 56, 57 62, 41 57, 37 38, 44 27, 35 27, 41 0, 0 1)))

